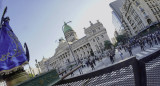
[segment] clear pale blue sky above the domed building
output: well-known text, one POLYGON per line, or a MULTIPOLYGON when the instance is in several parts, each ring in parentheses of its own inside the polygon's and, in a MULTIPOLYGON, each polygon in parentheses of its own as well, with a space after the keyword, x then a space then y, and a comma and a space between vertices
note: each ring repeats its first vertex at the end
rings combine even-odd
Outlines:
MULTIPOLYGON (((0 0, 2 1, 2 0, 0 0)), ((6 16, 10 17, 10 25, 23 44, 27 42, 31 61, 41 61, 44 57, 54 55, 59 38, 63 37, 64 21, 72 21, 69 25, 77 32, 79 38, 84 36, 84 27, 89 21, 99 20, 104 24, 110 38, 114 27, 109 3, 114 0, 3 0, 0 15, 5 6, 6 16)))

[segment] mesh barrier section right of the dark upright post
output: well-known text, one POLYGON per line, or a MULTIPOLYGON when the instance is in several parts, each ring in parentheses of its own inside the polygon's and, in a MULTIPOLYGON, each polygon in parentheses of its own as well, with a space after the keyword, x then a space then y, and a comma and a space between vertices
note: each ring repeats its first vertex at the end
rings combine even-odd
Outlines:
POLYGON ((145 63, 145 77, 147 86, 160 85, 160 50, 140 61, 145 63))

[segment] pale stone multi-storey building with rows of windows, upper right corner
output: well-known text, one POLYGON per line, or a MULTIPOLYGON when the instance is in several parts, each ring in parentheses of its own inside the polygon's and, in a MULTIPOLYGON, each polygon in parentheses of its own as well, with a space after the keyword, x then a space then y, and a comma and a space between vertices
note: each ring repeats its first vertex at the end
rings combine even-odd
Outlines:
POLYGON ((128 35, 135 36, 160 20, 159 0, 125 0, 121 7, 122 24, 128 35))

